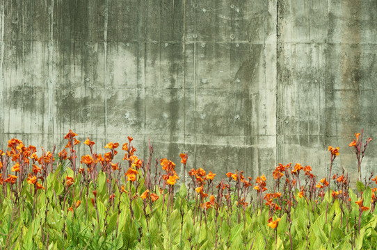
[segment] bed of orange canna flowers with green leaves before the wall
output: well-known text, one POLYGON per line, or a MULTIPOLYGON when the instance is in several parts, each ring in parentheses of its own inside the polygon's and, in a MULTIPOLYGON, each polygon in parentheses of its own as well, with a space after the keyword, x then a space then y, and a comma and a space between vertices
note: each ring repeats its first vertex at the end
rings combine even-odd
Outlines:
POLYGON ((77 134, 66 149, 40 153, 21 140, 0 151, 1 249, 376 249, 377 176, 362 181, 371 139, 355 135, 357 189, 344 171, 331 173, 339 148, 329 147, 330 173, 279 164, 270 180, 243 171, 217 176, 202 168, 177 175, 167 158, 136 156, 133 138, 76 156, 77 134), (118 150, 125 153, 115 163, 118 150), (178 187, 177 181, 181 183, 178 187), (267 188, 272 187, 271 189, 267 188), (331 189, 330 189, 331 185, 331 189))

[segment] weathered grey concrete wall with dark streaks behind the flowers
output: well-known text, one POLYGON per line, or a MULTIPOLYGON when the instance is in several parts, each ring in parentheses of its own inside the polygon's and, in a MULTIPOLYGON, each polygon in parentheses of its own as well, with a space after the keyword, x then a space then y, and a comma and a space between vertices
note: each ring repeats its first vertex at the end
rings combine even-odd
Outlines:
POLYGON ((0 0, 1 147, 132 135, 139 156, 151 138, 156 157, 255 177, 323 175, 332 145, 355 174, 353 133, 377 134, 376 15, 367 0, 0 0))

